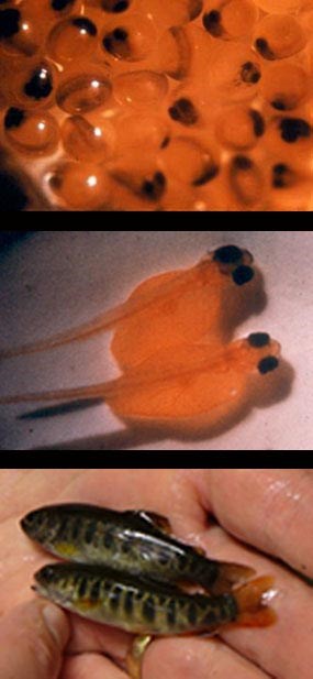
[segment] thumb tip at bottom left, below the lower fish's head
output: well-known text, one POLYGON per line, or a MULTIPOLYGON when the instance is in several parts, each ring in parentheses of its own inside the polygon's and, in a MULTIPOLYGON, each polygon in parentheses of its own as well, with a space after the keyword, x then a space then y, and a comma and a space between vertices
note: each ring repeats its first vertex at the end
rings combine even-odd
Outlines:
POLYGON ((57 679, 68 636, 67 616, 57 606, 16 606, 0 623, 0 677, 57 679))

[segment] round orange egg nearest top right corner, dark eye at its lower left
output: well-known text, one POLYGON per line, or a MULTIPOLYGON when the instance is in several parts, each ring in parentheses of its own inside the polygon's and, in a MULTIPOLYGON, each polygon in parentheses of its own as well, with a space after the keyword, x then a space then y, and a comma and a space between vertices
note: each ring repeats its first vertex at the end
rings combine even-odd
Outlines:
POLYGON ((268 14, 256 26, 254 44, 262 58, 283 59, 303 50, 305 35, 294 17, 268 14))

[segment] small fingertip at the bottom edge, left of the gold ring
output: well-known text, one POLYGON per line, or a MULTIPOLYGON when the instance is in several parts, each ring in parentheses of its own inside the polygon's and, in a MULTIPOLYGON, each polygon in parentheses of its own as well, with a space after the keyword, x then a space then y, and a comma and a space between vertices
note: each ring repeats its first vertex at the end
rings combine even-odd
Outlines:
POLYGON ((127 679, 109 658, 94 653, 67 657, 59 679, 127 679))

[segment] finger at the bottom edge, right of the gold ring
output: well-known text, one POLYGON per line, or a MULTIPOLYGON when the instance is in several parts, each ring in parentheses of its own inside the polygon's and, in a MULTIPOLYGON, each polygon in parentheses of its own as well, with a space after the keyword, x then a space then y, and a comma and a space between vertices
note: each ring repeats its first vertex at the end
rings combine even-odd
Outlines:
POLYGON ((152 644, 143 679, 267 679, 269 675, 220 639, 172 638, 152 644))

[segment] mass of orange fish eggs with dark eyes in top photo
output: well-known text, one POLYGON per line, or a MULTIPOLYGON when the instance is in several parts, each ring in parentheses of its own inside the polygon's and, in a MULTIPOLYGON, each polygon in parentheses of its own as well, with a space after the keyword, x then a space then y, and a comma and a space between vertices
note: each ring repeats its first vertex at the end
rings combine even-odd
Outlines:
POLYGON ((1 144, 78 210, 312 207, 313 0, 0 0, 1 144))

